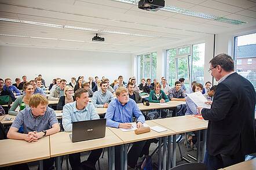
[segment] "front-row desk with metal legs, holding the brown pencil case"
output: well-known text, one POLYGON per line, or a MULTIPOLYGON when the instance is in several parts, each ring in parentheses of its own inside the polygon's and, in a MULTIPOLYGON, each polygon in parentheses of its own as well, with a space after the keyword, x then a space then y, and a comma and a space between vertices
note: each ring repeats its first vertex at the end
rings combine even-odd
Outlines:
MULTIPOLYGON (((153 122, 153 120, 145 121, 145 123, 148 124, 150 127, 153 127, 155 125, 163 127, 162 125, 159 125, 159 124, 153 122)), ((153 138, 159 138, 158 146, 162 147, 162 137, 163 137, 163 143, 164 143, 163 156, 162 156, 162 151, 160 149, 158 151, 158 154, 159 154, 158 155, 158 166, 159 166, 158 169, 162 168, 162 158, 163 158, 163 169, 166 169, 166 158, 167 158, 167 151, 166 151, 167 137, 166 136, 175 135, 176 133, 174 131, 167 129, 167 131, 164 131, 164 132, 156 132, 156 131, 151 130, 150 132, 147 132, 145 134, 136 135, 134 133, 134 131, 123 132, 119 128, 111 128, 111 127, 109 127, 109 129, 112 132, 114 132, 114 134, 116 134, 116 136, 118 136, 120 139, 122 139, 123 143, 125 144, 122 146, 122 147, 124 147, 122 162, 123 162, 123 168, 125 170, 127 169, 127 149, 128 149, 127 144, 128 143, 144 141, 144 140, 153 139, 153 138)), ((121 160, 122 160, 122 158, 121 158, 121 160)))

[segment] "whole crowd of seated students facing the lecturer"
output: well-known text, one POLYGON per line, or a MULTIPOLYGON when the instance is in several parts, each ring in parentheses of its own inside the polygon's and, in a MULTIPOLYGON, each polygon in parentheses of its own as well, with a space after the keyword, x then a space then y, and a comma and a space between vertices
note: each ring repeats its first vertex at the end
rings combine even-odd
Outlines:
MULTIPOLYGON (((107 126, 130 128, 134 116, 137 120, 137 127, 141 127, 145 122, 145 117, 137 106, 138 103, 142 102, 141 93, 149 94, 148 98, 145 98, 149 102, 186 102, 186 104, 178 106, 177 115, 180 116, 198 114, 195 103, 189 97, 186 97, 187 93, 196 91, 203 93, 204 91, 204 96, 211 101, 216 88, 216 86, 211 87, 210 82, 206 83, 205 88, 200 83, 192 82, 191 88, 186 90, 185 79, 183 78, 175 82, 174 87, 170 87, 164 77, 162 77, 161 82, 154 79, 153 83, 151 83, 151 79, 141 79, 139 85, 136 84, 135 77, 131 77, 127 85, 123 81, 123 76, 119 76, 112 84, 109 84, 109 79, 105 77, 101 80, 97 76, 94 78, 94 81, 93 77, 89 77, 88 81, 85 81, 83 76, 79 76, 77 80, 72 77, 68 85, 65 79, 53 79, 49 86, 50 94, 47 99, 45 80, 42 79, 42 75, 30 82, 27 81, 27 76, 23 76, 23 82, 20 82, 20 79, 17 78, 15 84, 12 84, 12 80, 9 78, 5 79, 3 84, 3 79, 0 79, 0 96, 9 95, 13 101, 8 114, 17 115, 8 132, 8 138, 34 142, 42 136, 60 131, 60 126, 57 123, 56 116, 54 116, 54 110, 47 106, 49 100, 58 101, 57 110, 63 110, 62 125, 64 131, 72 131, 72 122, 74 121, 100 119, 96 113, 96 108, 108 108, 105 114, 107 126), (23 90, 22 95, 19 90, 23 90), (89 98, 92 98, 92 102, 89 102, 89 98), (20 108, 24 106, 25 109, 17 112, 17 106, 20 106, 20 108), (24 134, 19 134, 18 131, 22 125, 24 134)), ((161 112, 162 117, 167 116, 166 109, 162 109, 161 112)), ((193 144, 195 140, 193 141, 191 136, 193 135, 189 134, 188 142, 193 144)), ((136 167, 139 157, 148 154, 150 143, 151 141, 133 143, 127 157, 127 163, 131 168, 136 167)), ((90 156, 83 162, 81 162, 80 153, 70 154, 68 158, 71 168, 94 169, 101 152, 102 149, 91 151, 90 156)), ((116 169, 120 169, 119 155, 120 146, 115 146, 116 169)), ((49 168, 52 165, 52 158, 44 160, 45 167, 49 168)), ((23 164, 23 167, 24 169, 28 168, 26 164, 23 164)))

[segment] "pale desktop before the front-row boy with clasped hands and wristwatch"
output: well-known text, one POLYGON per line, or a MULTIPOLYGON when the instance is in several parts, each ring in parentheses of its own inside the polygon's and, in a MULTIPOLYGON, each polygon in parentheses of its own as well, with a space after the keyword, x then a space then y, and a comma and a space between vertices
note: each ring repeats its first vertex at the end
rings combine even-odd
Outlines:
POLYGON ((0 155, 0 167, 50 158, 49 136, 32 143, 15 139, 1 140, 0 155))

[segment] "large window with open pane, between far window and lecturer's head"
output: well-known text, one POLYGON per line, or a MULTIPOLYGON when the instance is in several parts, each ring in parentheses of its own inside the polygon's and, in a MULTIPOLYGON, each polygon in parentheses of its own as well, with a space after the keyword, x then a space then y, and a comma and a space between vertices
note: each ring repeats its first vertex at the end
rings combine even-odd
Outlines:
POLYGON ((184 77, 187 88, 193 81, 204 84, 204 47, 205 43, 200 43, 192 45, 192 48, 186 46, 167 50, 166 78, 171 87, 181 77, 184 77))

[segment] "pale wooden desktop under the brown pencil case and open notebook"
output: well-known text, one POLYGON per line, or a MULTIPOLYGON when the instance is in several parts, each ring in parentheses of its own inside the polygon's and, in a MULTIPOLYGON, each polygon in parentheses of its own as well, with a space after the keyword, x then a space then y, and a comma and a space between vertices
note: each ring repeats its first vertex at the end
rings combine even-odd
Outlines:
MULTIPOLYGON (((158 125, 159 127, 163 127, 162 125, 154 123, 152 120, 145 121, 150 127, 158 125)), ((137 141, 144 141, 147 139, 159 138, 162 136, 169 136, 176 134, 174 131, 168 130, 164 132, 156 132, 151 130, 150 132, 136 135, 134 131, 123 132, 119 128, 108 127, 116 136, 118 136, 124 143, 131 143, 137 141)))

